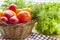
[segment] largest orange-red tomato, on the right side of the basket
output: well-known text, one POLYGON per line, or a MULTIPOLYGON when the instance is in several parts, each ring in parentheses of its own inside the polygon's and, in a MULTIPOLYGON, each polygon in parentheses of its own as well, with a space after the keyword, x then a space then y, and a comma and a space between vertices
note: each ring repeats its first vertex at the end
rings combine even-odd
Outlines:
POLYGON ((17 14, 17 18, 19 19, 19 22, 27 22, 31 21, 32 17, 29 12, 27 11, 21 11, 17 14))

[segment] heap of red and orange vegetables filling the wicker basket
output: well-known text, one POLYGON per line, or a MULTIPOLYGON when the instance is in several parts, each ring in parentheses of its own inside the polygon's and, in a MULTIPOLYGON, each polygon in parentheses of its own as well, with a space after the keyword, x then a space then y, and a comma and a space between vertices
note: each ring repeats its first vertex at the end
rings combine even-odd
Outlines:
POLYGON ((28 22, 32 20, 32 17, 30 15, 30 12, 22 9, 17 9, 16 5, 10 4, 6 9, 4 10, 3 22, 7 23, 7 20, 9 24, 18 24, 23 22, 28 22), (6 18, 5 18, 6 17, 6 18))

